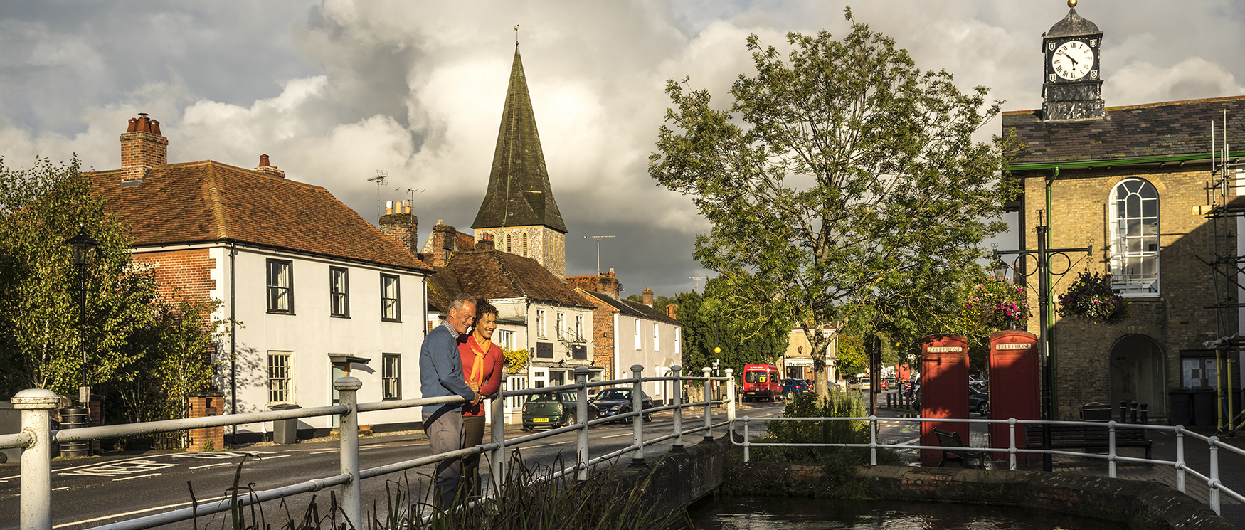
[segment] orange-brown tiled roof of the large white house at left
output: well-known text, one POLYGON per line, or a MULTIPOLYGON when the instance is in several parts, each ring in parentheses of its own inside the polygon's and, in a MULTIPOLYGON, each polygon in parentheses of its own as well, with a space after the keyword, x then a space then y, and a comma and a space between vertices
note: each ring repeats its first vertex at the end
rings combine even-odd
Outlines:
POLYGON ((83 173, 134 246, 235 241, 431 271, 327 189, 219 162, 158 165, 141 184, 120 169, 83 173))

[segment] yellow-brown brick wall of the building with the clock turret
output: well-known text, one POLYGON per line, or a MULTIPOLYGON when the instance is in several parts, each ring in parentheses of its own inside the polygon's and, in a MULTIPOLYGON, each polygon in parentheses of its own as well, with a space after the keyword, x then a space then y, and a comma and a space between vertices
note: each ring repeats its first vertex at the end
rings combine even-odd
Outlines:
MULTIPOLYGON (((1142 178, 1153 184, 1159 194, 1159 281, 1160 296, 1133 297, 1133 317, 1116 325, 1092 323, 1082 318, 1052 320, 1052 352, 1055 370, 1056 419, 1077 419, 1079 407, 1088 402, 1111 401, 1112 347, 1128 335, 1153 338, 1163 352, 1165 387, 1180 386, 1180 351, 1199 350, 1201 342, 1219 336, 1214 310, 1205 309, 1215 300, 1210 269, 1198 260, 1214 254, 1214 234, 1209 221, 1194 212, 1208 203, 1206 165, 1188 164, 1168 168, 1134 165, 1102 169, 1066 169, 1051 188, 1053 215, 1050 218, 1052 248, 1093 246, 1093 256, 1072 254, 1068 271, 1053 276, 1052 305, 1067 291, 1077 272, 1106 272, 1111 260, 1111 230, 1108 226, 1109 197, 1116 184, 1127 178, 1142 178)), ((1050 170, 1015 173, 1023 179, 1025 210, 1022 241, 1025 248, 1036 249, 1033 226, 1038 225, 1038 210, 1045 210, 1045 184, 1050 170)), ((1235 225, 1235 224, 1234 224, 1235 225)), ((1231 230, 1235 234, 1235 228, 1231 230)), ((1235 236, 1230 238, 1235 249, 1235 236)), ((1056 258, 1055 271, 1062 270, 1067 260, 1056 258)), ((1027 279, 1037 285, 1036 277, 1027 279)), ((1030 302, 1037 307, 1037 290, 1031 289, 1030 302)), ((1230 318, 1236 330, 1235 314, 1230 318)), ((1030 318, 1028 331, 1037 333, 1038 317, 1030 318)), ((1155 403, 1150 403, 1155 411, 1155 403)), ((1163 409, 1167 409, 1164 404, 1163 409)))

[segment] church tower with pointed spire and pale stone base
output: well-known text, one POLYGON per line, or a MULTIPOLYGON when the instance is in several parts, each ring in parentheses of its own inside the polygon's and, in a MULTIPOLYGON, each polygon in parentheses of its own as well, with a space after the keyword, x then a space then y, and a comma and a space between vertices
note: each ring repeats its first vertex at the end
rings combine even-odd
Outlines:
POLYGON ((549 187, 518 42, 488 189, 471 228, 477 241, 489 234, 497 250, 532 258, 554 276, 566 277, 566 224, 549 187))

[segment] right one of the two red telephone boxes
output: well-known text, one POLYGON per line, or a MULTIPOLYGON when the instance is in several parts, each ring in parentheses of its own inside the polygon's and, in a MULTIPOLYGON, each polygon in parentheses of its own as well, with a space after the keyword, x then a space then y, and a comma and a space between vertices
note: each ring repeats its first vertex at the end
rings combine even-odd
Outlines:
MULTIPOLYGON (((1037 336, 1027 331, 996 331, 990 333, 990 417, 994 419, 1041 419, 1041 386, 1038 373, 1037 336)), ((1008 427, 990 424, 990 447, 1007 449, 1008 427)), ((1016 425, 1016 447, 1025 447, 1025 425, 1016 425)), ((1003 460, 1006 452, 991 453, 1003 460)), ((1038 459, 1041 455, 1017 453, 1016 459, 1038 459)))

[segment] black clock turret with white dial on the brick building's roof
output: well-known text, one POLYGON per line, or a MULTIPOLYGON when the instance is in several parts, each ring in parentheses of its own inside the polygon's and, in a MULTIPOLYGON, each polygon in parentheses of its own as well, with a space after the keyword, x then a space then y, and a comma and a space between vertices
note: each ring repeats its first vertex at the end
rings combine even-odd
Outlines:
POLYGON ((1101 119, 1102 31, 1077 15, 1077 0, 1068 0, 1068 15, 1042 35, 1042 119, 1101 119))

